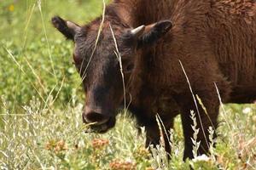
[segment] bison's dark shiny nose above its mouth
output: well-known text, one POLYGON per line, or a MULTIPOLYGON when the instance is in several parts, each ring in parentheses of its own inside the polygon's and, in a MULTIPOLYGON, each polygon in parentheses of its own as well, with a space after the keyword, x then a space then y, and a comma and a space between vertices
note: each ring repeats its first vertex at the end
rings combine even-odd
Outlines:
POLYGON ((84 123, 95 123, 95 125, 101 125, 105 122, 108 122, 110 116, 102 114, 101 111, 93 111, 90 108, 86 107, 83 113, 84 123))

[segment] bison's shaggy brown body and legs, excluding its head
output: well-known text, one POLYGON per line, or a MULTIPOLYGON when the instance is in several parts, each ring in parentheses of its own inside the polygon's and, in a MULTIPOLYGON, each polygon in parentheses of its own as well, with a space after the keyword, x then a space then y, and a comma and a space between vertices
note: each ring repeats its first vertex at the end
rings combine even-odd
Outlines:
MULTIPOLYGON (((202 129, 208 136, 208 127, 217 127, 219 100, 214 82, 225 103, 256 99, 255 14, 255 0, 115 0, 108 5, 105 23, 112 23, 119 35, 127 27, 160 20, 173 23, 172 30, 157 43, 136 50, 135 68, 127 82, 130 110, 139 125, 146 127, 147 144, 160 141, 156 114, 169 129, 173 118, 181 113, 184 159, 193 157, 189 113, 196 108, 179 61, 212 121, 200 107, 196 115, 202 122, 202 127, 198 122, 200 154, 208 150, 202 129)), ((98 25, 92 22, 87 27, 90 30, 98 25)), ((170 151, 167 143, 166 150, 170 151)))

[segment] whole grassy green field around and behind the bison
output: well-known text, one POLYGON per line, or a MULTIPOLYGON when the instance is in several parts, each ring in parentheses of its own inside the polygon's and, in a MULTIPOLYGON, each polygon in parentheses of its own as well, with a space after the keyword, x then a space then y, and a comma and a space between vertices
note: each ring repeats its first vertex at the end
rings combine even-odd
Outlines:
POLYGON ((182 161, 179 116, 171 161, 162 146, 145 148, 143 127, 122 113, 108 133, 84 133, 73 42, 50 25, 55 14, 86 24, 102 1, 0 0, 0 169, 256 169, 253 104, 224 105, 216 148, 192 161, 182 161))

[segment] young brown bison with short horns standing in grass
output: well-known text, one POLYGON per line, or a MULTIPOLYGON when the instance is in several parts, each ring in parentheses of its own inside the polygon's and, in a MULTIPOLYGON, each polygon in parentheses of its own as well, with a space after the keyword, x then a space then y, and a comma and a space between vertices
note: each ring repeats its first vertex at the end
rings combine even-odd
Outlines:
POLYGON ((207 129, 217 127, 220 103, 214 83, 225 103, 256 99, 255 13, 255 0, 114 0, 104 20, 79 26, 56 16, 52 23, 75 44, 73 59, 86 94, 84 122, 95 122, 91 128, 104 133, 124 103, 114 34, 126 101, 131 99, 129 110, 146 128, 147 145, 160 143, 156 114, 170 129, 180 113, 185 159, 193 158, 190 111, 196 111, 200 128, 198 154, 207 153, 207 129), (196 108, 181 63, 208 115, 199 104, 196 108))

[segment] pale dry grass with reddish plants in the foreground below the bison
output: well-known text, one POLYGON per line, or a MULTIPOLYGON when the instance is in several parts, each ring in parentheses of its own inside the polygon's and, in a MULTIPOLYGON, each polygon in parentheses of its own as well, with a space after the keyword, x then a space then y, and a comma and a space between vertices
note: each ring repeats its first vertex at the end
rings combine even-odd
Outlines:
MULTIPOLYGON (((41 103, 40 99, 32 98, 29 105, 22 107, 20 114, 10 114, 10 103, 4 99, 2 101, 5 114, 1 115, 1 167, 114 169, 118 166, 131 166, 149 169, 153 166, 161 169, 189 169, 192 164, 209 169, 255 167, 256 108, 251 107, 252 105, 241 107, 246 113, 232 112, 232 105, 225 108, 232 129, 230 130, 226 123, 218 128, 217 148, 212 151, 216 160, 213 161, 209 157, 202 161, 184 163, 179 117, 176 120, 176 129, 170 135, 172 161, 168 162, 164 161, 166 155, 161 146, 156 150, 151 148, 153 156, 149 154, 148 149, 144 148, 144 135, 137 133, 136 123, 131 118, 119 117, 116 127, 106 134, 84 133, 79 114, 82 104, 67 105, 65 111, 44 109, 44 103, 41 103)), ((220 117, 221 120, 223 116, 220 117)))

